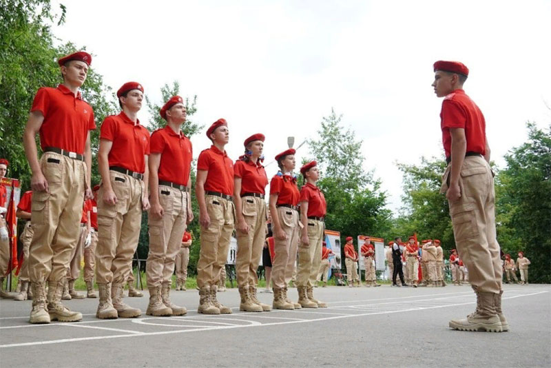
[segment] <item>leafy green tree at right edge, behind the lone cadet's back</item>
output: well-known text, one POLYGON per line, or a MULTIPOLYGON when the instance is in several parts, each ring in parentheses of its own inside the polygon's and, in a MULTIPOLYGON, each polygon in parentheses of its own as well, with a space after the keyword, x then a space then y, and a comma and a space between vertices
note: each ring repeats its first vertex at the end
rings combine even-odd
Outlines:
POLYGON ((528 141, 506 154, 497 176, 498 240, 514 258, 525 252, 530 281, 551 283, 551 125, 527 127, 528 141))

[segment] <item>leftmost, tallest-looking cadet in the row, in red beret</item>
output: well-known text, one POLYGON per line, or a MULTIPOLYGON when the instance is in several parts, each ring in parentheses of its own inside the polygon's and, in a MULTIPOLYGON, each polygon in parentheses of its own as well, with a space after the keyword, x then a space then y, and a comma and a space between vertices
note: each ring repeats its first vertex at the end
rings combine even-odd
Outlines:
POLYGON ((92 197, 90 130, 96 129, 96 124, 92 107, 79 92, 91 62, 87 52, 59 59, 63 83, 38 90, 23 132, 23 147, 32 171, 32 209, 36 209, 32 212, 34 234, 28 261, 34 294, 30 323, 82 319, 79 312, 61 304, 61 292, 65 265, 79 237, 83 198, 92 197), (37 134, 43 151, 40 161, 37 134))

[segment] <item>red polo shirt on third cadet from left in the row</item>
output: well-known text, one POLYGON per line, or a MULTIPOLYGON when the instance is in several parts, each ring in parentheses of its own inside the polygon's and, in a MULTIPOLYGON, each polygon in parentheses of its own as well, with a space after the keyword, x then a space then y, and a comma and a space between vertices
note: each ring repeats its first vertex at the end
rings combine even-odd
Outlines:
POLYGON ((160 154, 159 180, 187 185, 193 157, 187 136, 168 125, 158 129, 151 135, 151 153, 160 154))

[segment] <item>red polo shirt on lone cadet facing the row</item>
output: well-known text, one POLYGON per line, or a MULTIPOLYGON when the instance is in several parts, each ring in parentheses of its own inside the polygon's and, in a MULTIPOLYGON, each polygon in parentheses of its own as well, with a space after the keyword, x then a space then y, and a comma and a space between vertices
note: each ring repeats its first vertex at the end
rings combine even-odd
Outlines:
POLYGON ((440 112, 442 143, 446 157, 451 155, 450 128, 463 128, 467 139, 467 152, 486 154, 486 121, 484 115, 464 90, 455 90, 442 101, 440 112))

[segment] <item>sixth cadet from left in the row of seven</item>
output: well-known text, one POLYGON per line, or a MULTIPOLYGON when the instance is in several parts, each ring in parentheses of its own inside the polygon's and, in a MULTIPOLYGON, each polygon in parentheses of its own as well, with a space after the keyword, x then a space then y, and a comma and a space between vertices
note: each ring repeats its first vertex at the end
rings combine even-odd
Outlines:
POLYGON ((280 170, 270 182, 270 213, 275 257, 272 262, 273 308, 298 309, 287 296, 287 285, 293 276, 298 247, 298 192, 295 150, 289 148, 275 156, 280 170))

